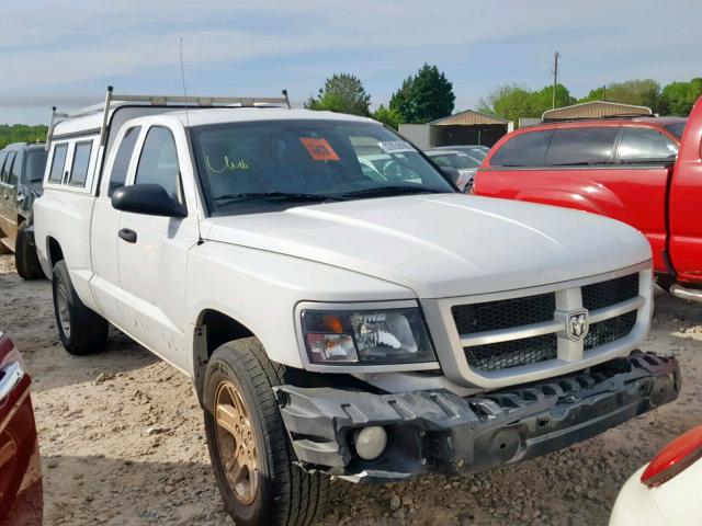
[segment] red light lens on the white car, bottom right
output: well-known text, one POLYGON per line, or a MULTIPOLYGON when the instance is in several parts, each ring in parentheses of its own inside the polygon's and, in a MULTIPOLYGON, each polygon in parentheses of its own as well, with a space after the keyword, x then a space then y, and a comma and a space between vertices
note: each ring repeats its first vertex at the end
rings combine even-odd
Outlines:
POLYGON ((650 461, 641 476, 642 483, 656 488, 702 458, 702 425, 680 435, 650 461))

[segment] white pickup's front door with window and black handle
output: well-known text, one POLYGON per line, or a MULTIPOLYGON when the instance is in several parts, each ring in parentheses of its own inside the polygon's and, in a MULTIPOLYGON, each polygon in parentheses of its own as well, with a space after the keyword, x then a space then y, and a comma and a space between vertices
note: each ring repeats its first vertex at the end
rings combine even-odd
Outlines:
MULTIPOLYGON (((128 184, 158 184, 189 208, 181 178, 181 165, 190 159, 183 130, 152 125, 143 133, 136 169, 128 184)), ((189 320, 183 309, 186 258, 199 240, 197 217, 192 208, 184 218, 122 211, 115 232, 125 329, 182 369, 190 363, 184 352, 189 346, 185 342, 189 320)))

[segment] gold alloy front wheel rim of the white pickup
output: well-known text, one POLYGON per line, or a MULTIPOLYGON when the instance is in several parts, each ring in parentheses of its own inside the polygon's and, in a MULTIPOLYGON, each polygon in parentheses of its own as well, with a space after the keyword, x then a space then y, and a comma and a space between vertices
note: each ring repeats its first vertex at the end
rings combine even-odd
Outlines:
POLYGON ((249 505, 256 499, 258 489, 258 448, 244 399, 229 381, 222 382, 217 388, 215 420, 217 448, 227 480, 237 500, 249 505))

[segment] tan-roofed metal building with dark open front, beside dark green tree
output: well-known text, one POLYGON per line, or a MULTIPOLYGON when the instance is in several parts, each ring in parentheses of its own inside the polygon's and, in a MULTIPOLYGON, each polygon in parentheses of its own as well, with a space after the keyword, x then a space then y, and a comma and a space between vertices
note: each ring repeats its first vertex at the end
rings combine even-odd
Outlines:
POLYGON ((466 110, 428 124, 400 124, 399 133, 426 150, 435 146, 492 146, 513 128, 514 124, 505 118, 466 110))

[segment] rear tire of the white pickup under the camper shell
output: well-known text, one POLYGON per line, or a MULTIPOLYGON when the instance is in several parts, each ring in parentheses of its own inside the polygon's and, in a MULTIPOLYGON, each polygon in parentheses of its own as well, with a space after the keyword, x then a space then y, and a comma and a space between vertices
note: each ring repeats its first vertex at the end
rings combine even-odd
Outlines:
POLYGON ((79 356, 102 351, 110 325, 80 300, 63 260, 54 265, 52 290, 58 336, 66 351, 79 356))

